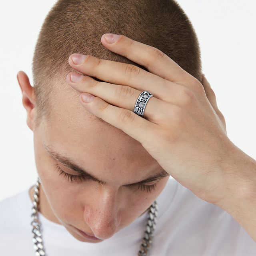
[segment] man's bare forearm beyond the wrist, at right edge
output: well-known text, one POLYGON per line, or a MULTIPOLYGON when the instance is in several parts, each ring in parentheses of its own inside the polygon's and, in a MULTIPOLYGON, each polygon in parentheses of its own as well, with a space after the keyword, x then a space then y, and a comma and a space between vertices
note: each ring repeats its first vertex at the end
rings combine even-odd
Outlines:
POLYGON ((238 148, 232 154, 229 172, 225 174, 228 196, 219 206, 256 242, 256 161, 238 148))

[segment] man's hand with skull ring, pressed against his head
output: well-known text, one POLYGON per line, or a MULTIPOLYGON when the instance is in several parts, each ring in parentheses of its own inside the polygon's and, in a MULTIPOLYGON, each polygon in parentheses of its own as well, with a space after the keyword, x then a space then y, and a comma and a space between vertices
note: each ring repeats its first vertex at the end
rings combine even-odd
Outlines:
POLYGON ((80 103, 138 140, 166 172, 198 197, 215 204, 225 200, 226 161, 234 144, 226 135, 224 118, 206 78, 203 86, 156 48, 125 36, 116 42, 112 35, 106 38, 102 36, 102 44, 108 50, 149 72, 130 64, 72 54, 69 64, 88 75, 72 72, 67 76, 68 84, 81 92, 80 103), (154 95, 144 118, 133 112, 142 91, 154 95))

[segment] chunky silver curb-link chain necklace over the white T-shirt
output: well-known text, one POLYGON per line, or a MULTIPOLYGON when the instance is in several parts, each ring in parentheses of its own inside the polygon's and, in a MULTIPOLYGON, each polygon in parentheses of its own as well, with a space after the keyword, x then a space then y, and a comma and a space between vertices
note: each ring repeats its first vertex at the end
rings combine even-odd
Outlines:
MULTIPOLYGON (((31 226, 33 227, 32 233, 34 237, 32 238, 32 242, 34 244, 34 249, 36 256, 46 256, 44 252, 44 245, 42 241, 42 234, 40 232, 40 221, 38 218, 38 205, 39 205, 39 178, 36 181, 34 186, 34 194, 33 194, 33 208, 32 208, 32 222, 31 226)), ((140 250, 138 251, 138 256, 146 256, 148 255, 148 251, 150 249, 150 245, 153 239, 153 232, 156 227, 156 217, 158 212, 157 201, 154 201, 153 204, 148 208, 148 222, 146 226, 146 231, 144 233, 144 238, 142 239, 142 244, 140 246, 140 250)))

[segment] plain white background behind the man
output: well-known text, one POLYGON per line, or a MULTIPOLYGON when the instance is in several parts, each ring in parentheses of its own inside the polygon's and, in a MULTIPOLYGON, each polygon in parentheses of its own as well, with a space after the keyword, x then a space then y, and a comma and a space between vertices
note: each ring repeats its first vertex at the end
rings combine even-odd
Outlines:
MULTIPOLYGON (((226 118, 229 138, 256 159, 256 1, 178 0, 190 18, 202 53, 203 72, 226 118)), ((30 80, 34 46, 55 0, 0 4, 0 200, 36 181, 33 133, 16 74, 30 80)))

